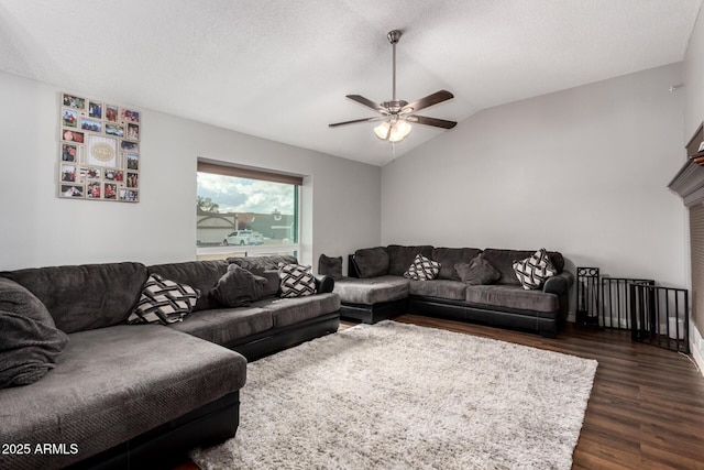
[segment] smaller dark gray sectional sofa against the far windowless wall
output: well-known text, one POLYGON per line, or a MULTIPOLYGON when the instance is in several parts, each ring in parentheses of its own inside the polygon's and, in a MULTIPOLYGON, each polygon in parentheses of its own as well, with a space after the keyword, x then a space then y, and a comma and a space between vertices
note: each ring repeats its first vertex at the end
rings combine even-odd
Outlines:
POLYGON ((540 289, 525 289, 512 263, 534 252, 397 244, 358 250, 349 256, 348 277, 336 281, 334 292, 342 302, 340 315, 376 323, 410 313, 527 329, 554 337, 566 320, 574 276, 564 271, 561 253, 548 252, 558 274, 548 278, 540 289), (454 265, 470 263, 480 253, 501 277, 493 284, 468 285, 460 280, 454 265), (440 263, 438 278, 413 281, 404 277, 416 254, 440 263))

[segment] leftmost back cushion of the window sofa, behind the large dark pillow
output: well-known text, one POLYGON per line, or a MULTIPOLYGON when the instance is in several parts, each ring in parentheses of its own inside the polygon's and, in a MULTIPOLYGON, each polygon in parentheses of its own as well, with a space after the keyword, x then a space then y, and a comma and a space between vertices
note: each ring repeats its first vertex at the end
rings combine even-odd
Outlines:
POLYGON ((84 264, 2 272, 24 286, 52 314, 64 332, 84 331, 123 323, 146 281, 142 263, 84 264))

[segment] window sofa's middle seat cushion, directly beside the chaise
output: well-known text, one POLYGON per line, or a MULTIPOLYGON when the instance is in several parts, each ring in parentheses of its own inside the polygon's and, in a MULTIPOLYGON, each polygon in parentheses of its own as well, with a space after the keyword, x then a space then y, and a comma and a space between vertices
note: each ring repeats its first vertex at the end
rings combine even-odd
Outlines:
POLYGON ((254 307, 212 308, 189 315, 177 324, 169 325, 206 341, 228 347, 242 338, 272 329, 272 313, 254 307))

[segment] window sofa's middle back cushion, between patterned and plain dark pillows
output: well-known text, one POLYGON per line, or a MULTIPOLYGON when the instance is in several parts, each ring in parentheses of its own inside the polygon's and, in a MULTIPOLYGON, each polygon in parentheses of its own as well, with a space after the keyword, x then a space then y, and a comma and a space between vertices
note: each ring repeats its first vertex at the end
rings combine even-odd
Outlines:
POLYGON ((200 297, 193 311, 221 307, 211 291, 228 272, 228 263, 222 260, 155 264, 148 266, 147 271, 150 274, 158 274, 165 280, 187 284, 200 291, 200 297))

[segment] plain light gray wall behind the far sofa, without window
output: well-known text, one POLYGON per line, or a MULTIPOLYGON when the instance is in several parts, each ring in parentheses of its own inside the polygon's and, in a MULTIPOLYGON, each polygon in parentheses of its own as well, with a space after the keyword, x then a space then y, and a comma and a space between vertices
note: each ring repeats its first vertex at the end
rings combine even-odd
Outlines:
POLYGON ((667 188, 681 81, 674 64, 479 112, 383 168, 382 244, 544 247, 685 286, 685 211, 667 188))

